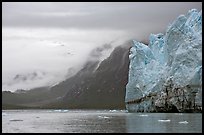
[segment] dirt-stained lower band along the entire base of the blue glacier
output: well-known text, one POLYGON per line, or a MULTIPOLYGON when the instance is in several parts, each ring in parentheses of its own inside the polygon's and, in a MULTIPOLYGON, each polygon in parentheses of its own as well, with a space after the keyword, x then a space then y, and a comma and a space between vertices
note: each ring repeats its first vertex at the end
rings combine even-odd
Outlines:
POLYGON ((129 112, 202 112, 202 101, 197 99, 199 91, 196 89, 200 86, 174 87, 169 83, 159 92, 126 102, 126 107, 129 112))

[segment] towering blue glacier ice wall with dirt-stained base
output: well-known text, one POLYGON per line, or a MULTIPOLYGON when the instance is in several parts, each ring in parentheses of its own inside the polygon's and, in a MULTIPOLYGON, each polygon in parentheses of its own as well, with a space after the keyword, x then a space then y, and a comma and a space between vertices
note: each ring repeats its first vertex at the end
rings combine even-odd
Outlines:
POLYGON ((148 46, 133 40, 129 59, 128 111, 202 111, 202 11, 180 15, 148 46))

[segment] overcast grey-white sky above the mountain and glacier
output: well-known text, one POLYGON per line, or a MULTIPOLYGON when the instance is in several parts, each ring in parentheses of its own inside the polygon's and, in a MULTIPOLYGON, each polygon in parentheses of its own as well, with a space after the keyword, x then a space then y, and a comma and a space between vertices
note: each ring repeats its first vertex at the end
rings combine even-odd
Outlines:
POLYGON ((92 49, 148 41, 201 2, 3 2, 2 90, 53 85, 76 72, 92 49), (72 70, 74 69, 74 70, 72 70))

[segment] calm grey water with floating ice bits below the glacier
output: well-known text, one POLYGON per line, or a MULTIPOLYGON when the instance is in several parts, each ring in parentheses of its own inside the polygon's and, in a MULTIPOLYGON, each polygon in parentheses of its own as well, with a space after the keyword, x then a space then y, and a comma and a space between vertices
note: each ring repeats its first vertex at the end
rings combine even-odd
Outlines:
POLYGON ((3 133, 202 133, 201 113, 3 110, 3 133))

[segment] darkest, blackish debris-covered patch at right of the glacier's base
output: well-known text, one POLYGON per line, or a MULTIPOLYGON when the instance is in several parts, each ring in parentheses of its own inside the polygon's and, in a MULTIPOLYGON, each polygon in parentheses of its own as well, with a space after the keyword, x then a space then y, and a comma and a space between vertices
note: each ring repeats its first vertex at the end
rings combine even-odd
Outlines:
POLYGON ((197 89, 200 89, 199 85, 175 87, 169 80, 161 93, 155 97, 157 112, 202 112, 200 101, 196 100, 197 89))

